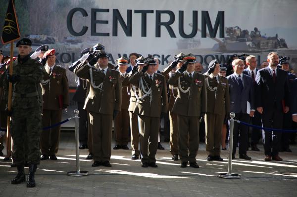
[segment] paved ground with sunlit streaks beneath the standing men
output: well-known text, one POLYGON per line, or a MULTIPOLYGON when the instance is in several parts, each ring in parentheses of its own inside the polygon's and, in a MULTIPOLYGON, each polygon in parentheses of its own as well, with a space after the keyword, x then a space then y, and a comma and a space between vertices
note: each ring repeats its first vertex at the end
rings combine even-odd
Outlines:
POLYGON ((93 161, 86 160, 88 152, 82 150, 81 170, 90 175, 71 177, 66 174, 76 169, 74 132, 62 132, 58 160, 42 161, 35 188, 27 189, 25 183, 11 185, 16 168, 0 157, 0 197, 297 197, 296 145, 291 146, 293 153, 280 153, 282 162, 264 161, 261 146, 261 152, 248 151, 251 161, 233 161, 232 172, 241 174, 241 179, 233 180, 218 178, 228 171, 228 151, 221 154, 224 161, 209 162, 205 161, 205 144, 200 144, 200 168, 180 168, 179 161, 171 160, 169 143, 162 145, 165 150, 157 152, 157 168, 142 168, 127 150, 112 150, 111 168, 91 167, 93 161))

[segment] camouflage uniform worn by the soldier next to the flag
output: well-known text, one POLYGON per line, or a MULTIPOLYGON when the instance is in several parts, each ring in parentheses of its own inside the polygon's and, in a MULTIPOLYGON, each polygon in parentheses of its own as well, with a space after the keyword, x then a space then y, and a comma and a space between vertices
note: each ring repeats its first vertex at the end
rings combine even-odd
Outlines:
MULTIPOLYGON (((13 63, 13 75, 20 76, 20 80, 12 84, 12 115, 10 121, 14 149, 12 159, 17 166, 25 163, 24 147, 26 146, 28 147, 28 163, 40 163, 39 140, 42 130, 42 98, 40 97, 39 83, 43 79, 44 73, 43 65, 31 59, 29 55, 23 59, 18 57, 13 63)), ((8 86, 6 78, 4 83, 8 86)))

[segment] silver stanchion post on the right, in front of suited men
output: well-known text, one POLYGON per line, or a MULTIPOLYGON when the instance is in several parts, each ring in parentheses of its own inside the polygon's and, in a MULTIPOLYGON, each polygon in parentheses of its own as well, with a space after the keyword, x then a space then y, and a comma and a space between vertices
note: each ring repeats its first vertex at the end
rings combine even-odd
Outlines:
POLYGON ((233 128, 234 128, 235 113, 230 113, 230 138, 229 138, 229 159, 228 159, 228 173, 219 174, 220 178, 225 179, 240 179, 239 174, 232 174, 232 155, 233 155, 233 128))

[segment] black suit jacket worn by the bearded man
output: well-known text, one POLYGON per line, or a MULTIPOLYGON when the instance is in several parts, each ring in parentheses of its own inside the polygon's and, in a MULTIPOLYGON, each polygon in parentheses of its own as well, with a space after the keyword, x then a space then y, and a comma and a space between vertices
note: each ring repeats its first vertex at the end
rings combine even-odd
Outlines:
POLYGON ((263 107, 263 111, 278 110, 283 111, 282 102, 289 106, 289 85, 286 71, 277 68, 276 82, 270 74, 269 67, 257 72, 256 76, 256 107, 263 107))

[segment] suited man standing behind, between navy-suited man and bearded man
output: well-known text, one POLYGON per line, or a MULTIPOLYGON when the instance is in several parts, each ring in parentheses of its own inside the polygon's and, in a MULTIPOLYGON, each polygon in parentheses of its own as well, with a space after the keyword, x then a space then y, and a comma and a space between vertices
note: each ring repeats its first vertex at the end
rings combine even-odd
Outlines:
MULTIPOLYGON (((251 77, 253 84, 254 84, 254 89, 256 85, 256 75, 259 69, 257 69, 257 59, 253 55, 249 55, 246 58, 246 64, 247 64, 247 69, 244 70, 244 74, 248 75, 251 77)), ((259 112, 255 111, 254 117, 251 118, 252 124, 257 125, 257 126, 262 126, 261 122, 261 115, 259 112)), ((260 130, 258 128, 252 128, 252 133, 251 133, 251 140, 250 140, 250 146, 252 151, 260 151, 257 147, 257 144, 260 139, 260 130)))

